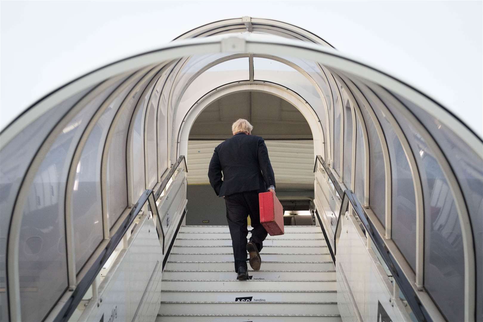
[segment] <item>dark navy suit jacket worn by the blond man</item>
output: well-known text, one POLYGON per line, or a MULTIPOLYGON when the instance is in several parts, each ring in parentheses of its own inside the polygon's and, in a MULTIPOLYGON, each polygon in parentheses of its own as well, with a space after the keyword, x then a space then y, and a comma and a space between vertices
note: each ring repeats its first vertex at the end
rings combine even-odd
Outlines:
POLYGON ((256 135, 237 133, 220 143, 214 149, 208 178, 218 196, 253 190, 266 192, 270 185, 275 187, 265 141, 256 135))

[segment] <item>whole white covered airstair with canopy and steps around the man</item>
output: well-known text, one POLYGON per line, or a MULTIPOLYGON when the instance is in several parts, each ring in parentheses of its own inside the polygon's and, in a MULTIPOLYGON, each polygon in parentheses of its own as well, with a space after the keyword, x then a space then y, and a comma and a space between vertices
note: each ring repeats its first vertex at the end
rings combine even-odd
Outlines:
POLYGON ((482 139, 297 26, 221 20, 92 70, 2 129, 0 162, 2 322, 483 321, 482 139), (238 117, 290 209, 247 281, 206 185, 238 117))

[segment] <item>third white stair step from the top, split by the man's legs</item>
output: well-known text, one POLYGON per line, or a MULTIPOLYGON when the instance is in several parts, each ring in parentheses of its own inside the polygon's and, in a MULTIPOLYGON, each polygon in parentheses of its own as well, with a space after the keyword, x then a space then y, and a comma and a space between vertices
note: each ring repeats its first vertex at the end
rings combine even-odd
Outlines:
MULTIPOLYGON (((175 246, 229 246, 231 238, 176 238, 175 246)), ((327 247, 324 238, 304 239, 304 238, 285 238, 285 239, 265 239, 263 247, 266 246, 319 246, 327 247)))

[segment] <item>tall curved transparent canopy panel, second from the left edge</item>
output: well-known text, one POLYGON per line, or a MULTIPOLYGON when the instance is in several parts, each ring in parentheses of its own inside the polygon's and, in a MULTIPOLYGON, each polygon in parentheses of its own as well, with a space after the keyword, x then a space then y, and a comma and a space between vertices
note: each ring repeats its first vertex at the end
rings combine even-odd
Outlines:
POLYGON ((18 264, 24 321, 42 320, 68 286, 64 201, 69 166, 85 126, 122 81, 100 85, 86 96, 85 107, 57 135, 29 188, 18 264))

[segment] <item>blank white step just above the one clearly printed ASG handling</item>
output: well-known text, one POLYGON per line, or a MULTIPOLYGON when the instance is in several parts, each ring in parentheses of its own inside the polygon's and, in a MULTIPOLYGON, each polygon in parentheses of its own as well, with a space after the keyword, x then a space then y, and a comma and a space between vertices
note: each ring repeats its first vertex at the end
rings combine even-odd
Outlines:
POLYGON ((163 290, 336 290, 335 280, 163 280, 163 290))

